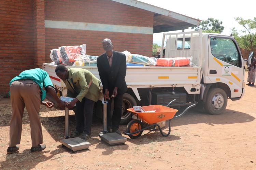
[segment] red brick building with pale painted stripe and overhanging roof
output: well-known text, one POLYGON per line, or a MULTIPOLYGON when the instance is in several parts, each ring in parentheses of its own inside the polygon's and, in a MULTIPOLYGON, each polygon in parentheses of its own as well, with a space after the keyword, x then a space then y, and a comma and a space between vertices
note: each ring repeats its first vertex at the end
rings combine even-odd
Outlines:
POLYGON ((51 62, 53 48, 86 44, 100 55, 110 38, 116 51, 151 56, 153 33, 200 21, 136 0, 1 0, 0 17, 0 94, 20 72, 51 62))

